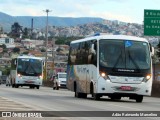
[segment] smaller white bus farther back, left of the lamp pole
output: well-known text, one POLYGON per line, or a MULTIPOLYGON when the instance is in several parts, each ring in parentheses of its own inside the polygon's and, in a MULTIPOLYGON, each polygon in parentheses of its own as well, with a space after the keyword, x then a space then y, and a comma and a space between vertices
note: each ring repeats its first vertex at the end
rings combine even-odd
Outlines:
POLYGON ((39 57, 22 55, 12 59, 10 79, 12 87, 39 87, 43 80, 43 60, 39 57))

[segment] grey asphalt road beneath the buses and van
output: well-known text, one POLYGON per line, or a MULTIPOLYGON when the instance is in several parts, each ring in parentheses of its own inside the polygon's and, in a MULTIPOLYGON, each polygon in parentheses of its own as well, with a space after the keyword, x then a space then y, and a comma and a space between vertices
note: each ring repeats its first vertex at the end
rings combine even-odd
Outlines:
POLYGON ((144 97, 142 103, 136 103, 135 100, 128 98, 112 101, 108 97, 94 101, 89 95, 87 99, 75 98, 74 93, 67 89, 53 90, 49 87, 40 87, 38 90, 29 89, 29 87, 12 88, 0 85, 0 111, 46 111, 41 114, 47 117, 37 119, 137 120, 140 118, 141 120, 158 120, 159 117, 156 115, 160 115, 160 112, 154 111, 160 111, 160 98, 144 97), (139 117, 140 113, 143 117, 139 117), (124 115, 134 117, 124 117, 124 115))

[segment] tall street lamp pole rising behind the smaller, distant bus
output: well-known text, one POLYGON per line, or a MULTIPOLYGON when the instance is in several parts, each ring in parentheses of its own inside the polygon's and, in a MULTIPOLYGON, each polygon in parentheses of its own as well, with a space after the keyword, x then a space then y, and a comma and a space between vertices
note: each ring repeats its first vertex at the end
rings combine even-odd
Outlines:
POLYGON ((46 76, 45 80, 47 80, 47 46, 48 46, 48 13, 51 12, 49 9, 44 10, 47 13, 47 20, 46 20, 46 55, 45 55, 45 70, 46 76))

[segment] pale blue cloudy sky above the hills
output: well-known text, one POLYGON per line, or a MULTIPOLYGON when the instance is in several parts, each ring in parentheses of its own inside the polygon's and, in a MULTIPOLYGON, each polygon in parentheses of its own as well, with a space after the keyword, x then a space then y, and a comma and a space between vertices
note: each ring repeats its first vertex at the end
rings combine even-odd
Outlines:
POLYGON ((144 9, 159 10, 160 0, 0 0, 11 16, 100 17, 142 24, 144 9))

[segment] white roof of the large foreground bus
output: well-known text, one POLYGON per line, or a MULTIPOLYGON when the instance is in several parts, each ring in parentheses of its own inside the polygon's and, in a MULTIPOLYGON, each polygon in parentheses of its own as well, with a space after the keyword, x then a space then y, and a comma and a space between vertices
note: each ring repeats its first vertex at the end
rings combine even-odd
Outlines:
POLYGON ((128 36, 128 35, 100 35, 100 36, 92 36, 92 37, 86 37, 84 39, 74 40, 72 43, 78 43, 78 42, 84 42, 89 40, 100 40, 100 39, 115 39, 115 40, 135 40, 135 41, 144 41, 148 42, 147 39, 136 37, 136 36, 128 36))

